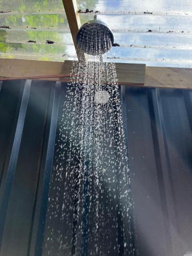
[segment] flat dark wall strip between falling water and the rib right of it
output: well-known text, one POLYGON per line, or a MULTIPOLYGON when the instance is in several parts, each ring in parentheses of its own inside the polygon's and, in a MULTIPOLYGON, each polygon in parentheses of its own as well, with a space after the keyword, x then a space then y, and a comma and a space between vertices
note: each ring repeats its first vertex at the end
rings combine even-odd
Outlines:
POLYGON ((139 255, 166 255, 151 116, 146 89, 126 88, 127 138, 139 255), (158 230, 158 232, 157 232, 158 230))

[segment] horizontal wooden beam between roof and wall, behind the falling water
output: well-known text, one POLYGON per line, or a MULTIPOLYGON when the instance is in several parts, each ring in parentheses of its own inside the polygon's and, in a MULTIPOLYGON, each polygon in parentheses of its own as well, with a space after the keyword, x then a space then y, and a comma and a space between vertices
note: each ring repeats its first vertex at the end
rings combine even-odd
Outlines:
MULTIPOLYGON (((7 77, 37 77, 37 76, 59 76, 68 75, 71 70, 66 62, 22 60, 22 59, 1 59, 0 58, 0 79, 7 77), (68 68, 67 68, 68 66, 68 68)), ((176 88, 192 89, 192 69, 182 68, 159 68, 146 67, 144 84, 138 80, 138 74, 143 72, 143 66, 127 63, 116 63, 119 84, 154 87, 154 88, 176 88), (138 71, 140 69, 140 71, 138 71), (126 80, 125 80, 126 79, 126 80)), ((46 80, 68 81, 67 78, 47 78, 46 80)))

